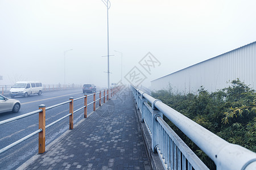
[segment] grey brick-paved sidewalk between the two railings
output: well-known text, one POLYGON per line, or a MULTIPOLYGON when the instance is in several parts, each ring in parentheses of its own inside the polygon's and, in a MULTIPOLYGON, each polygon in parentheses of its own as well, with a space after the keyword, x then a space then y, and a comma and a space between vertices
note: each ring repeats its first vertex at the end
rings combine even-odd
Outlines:
POLYGON ((20 169, 151 169, 133 96, 125 95, 119 92, 20 169))

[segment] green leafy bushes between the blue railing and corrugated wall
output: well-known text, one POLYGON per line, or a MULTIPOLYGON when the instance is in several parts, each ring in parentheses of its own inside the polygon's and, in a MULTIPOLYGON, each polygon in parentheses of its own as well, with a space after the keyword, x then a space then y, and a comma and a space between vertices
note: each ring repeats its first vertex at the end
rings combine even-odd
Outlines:
MULTIPOLYGON (((174 94, 171 87, 151 94, 222 139, 256 152, 256 93, 239 79, 229 83, 228 88, 211 93, 201 87, 198 95, 174 94)), ((195 143, 164 120, 210 169, 216 169, 195 143)))

